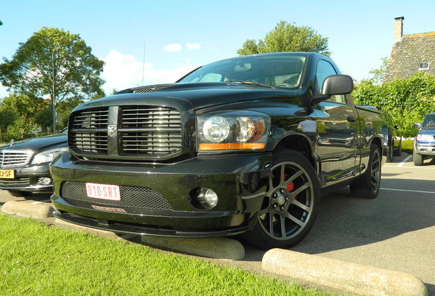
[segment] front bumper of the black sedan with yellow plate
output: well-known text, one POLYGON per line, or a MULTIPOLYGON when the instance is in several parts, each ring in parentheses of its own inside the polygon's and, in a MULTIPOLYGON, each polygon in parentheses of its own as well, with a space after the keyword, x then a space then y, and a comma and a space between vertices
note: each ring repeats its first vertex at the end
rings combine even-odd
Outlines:
POLYGON ((30 164, 26 167, 5 167, 15 171, 14 179, 0 179, 0 189, 29 191, 32 193, 53 193, 53 184, 42 184, 42 177, 50 177, 49 163, 30 164))

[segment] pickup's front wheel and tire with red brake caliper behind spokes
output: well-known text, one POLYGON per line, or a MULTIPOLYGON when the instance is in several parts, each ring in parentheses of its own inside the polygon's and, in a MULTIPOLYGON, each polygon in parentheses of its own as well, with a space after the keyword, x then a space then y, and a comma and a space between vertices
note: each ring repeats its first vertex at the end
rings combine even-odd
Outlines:
POLYGON ((319 202, 320 184, 313 165, 296 151, 277 152, 256 223, 241 237, 261 249, 292 247, 313 227, 319 202))

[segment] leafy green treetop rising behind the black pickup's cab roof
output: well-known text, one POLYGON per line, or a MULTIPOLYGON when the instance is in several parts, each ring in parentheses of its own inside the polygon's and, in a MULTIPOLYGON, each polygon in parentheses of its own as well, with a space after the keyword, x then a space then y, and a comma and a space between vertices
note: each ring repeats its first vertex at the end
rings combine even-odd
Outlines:
POLYGON ((242 48, 237 50, 240 56, 255 53, 269 53, 280 51, 308 51, 330 56, 328 51, 328 38, 317 34, 311 27, 298 27, 295 23, 280 21, 275 28, 268 32, 258 43, 248 39, 243 42, 242 48))

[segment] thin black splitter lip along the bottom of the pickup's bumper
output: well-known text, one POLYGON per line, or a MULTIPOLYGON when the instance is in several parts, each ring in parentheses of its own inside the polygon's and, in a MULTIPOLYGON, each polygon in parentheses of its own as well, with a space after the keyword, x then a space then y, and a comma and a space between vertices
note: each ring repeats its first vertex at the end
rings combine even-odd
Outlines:
POLYGON ((146 227, 146 225, 133 225, 132 223, 122 223, 119 221, 107 221, 90 217, 83 217, 78 214, 72 214, 69 212, 60 212, 55 210, 53 215, 57 219, 61 219, 66 222, 74 223, 77 225, 96 228, 98 230, 106 230, 109 232, 116 232, 120 234, 136 234, 146 236, 166 236, 166 237, 180 237, 180 238, 206 238, 216 236, 231 236, 235 234, 241 234, 248 230, 252 230, 250 226, 230 228, 226 230, 211 230, 211 231, 180 231, 172 229, 163 229, 156 227, 146 227))

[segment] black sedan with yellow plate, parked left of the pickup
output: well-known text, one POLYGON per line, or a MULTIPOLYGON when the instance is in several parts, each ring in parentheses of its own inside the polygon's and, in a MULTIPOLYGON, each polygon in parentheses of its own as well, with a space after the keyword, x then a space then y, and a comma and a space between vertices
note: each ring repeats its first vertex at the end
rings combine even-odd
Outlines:
POLYGON ((67 130, 60 134, 31 138, 0 148, 0 189, 14 196, 53 193, 49 164, 68 151, 67 130))

